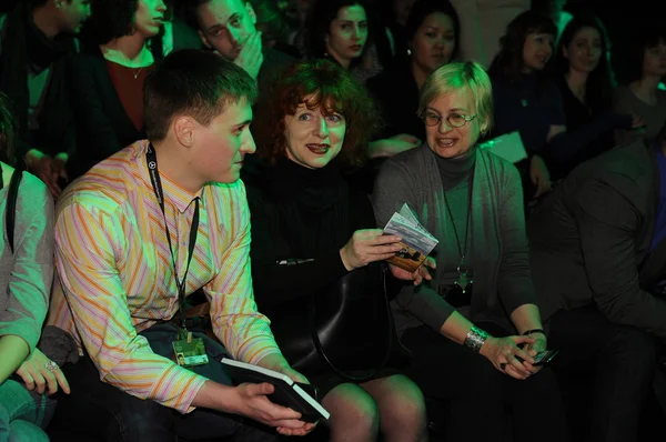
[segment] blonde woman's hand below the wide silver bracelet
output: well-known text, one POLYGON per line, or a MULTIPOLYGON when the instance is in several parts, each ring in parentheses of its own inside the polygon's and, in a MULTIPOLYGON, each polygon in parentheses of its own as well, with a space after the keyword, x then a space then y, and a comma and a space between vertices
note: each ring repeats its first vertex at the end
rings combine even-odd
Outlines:
POLYGON ((529 368, 532 368, 534 360, 531 354, 522 350, 518 345, 528 345, 534 342, 535 340, 528 336, 488 336, 482 345, 480 353, 486 356, 501 372, 512 378, 524 380, 532 375, 529 368), (518 361, 516 356, 523 359, 525 362, 518 361))

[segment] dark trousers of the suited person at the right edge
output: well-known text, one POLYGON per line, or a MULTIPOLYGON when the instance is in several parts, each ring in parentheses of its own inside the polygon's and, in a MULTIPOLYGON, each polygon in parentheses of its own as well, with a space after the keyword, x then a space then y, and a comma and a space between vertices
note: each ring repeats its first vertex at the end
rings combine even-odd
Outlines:
POLYGON ((567 404, 579 403, 582 395, 585 400, 582 393, 587 390, 589 440, 636 441, 640 408, 655 373, 656 340, 585 307, 553 315, 548 345, 559 349, 554 369, 567 404))

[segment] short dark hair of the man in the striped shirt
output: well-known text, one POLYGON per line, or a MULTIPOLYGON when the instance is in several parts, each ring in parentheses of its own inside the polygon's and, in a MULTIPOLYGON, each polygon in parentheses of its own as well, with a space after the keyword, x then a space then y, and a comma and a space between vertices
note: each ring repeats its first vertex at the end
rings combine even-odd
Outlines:
POLYGON ((242 68, 211 51, 171 52, 143 87, 145 134, 152 141, 163 140, 178 115, 208 125, 226 104, 243 100, 254 103, 256 86, 242 68))

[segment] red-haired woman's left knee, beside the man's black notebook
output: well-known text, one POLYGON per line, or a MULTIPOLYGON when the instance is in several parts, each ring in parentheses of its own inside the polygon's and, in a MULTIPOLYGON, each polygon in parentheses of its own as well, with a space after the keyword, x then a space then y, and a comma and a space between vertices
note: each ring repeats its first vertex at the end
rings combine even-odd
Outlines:
POLYGON ((380 410, 375 401, 355 384, 344 383, 331 390, 322 400, 331 413, 331 430, 354 433, 359 440, 376 438, 380 410))

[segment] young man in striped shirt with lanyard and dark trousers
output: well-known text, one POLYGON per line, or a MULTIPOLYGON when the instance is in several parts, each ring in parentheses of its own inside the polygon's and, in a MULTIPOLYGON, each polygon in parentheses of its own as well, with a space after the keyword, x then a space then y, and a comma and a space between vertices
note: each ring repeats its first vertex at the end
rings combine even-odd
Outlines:
POLYGON ((179 365, 171 349, 178 329, 170 321, 203 288, 213 331, 234 359, 306 381, 280 353, 252 293, 239 173, 254 152, 255 96, 254 81, 232 62, 173 52, 147 80, 149 140, 100 162, 59 199, 49 323, 77 336, 83 354, 65 373, 71 394, 59 401, 70 429, 140 442, 275 436, 232 415, 282 434, 312 429, 269 401, 272 385, 225 385, 179 365))

